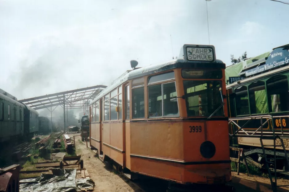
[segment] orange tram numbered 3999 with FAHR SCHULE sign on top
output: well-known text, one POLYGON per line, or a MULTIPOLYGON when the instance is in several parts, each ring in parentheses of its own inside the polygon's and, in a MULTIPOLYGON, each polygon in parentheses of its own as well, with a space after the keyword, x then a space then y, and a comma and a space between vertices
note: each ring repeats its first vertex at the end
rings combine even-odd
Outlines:
POLYGON ((184 45, 173 61, 136 65, 90 104, 91 148, 126 176, 230 182, 226 65, 214 46, 184 45))

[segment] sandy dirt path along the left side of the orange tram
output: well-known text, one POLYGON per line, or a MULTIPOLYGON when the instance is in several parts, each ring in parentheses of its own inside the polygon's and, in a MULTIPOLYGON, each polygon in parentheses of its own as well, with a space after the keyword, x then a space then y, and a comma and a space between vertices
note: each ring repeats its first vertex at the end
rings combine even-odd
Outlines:
POLYGON ((95 153, 89 147, 86 148, 86 145, 80 141, 80 137, 75 137, 75 145, 77 155, 81 155, 83 159, 83 167, 88 170, 90 178, 95 182, 93 191, 142 192, 129 179, 116 174, 111 167, 95 157, 95 153))

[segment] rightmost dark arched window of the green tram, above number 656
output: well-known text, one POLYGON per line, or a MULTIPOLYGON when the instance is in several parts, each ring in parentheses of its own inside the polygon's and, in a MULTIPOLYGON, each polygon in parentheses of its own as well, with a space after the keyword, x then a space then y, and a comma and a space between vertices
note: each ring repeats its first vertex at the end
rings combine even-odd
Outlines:
POLYGON ((270 112, 289 111, 288 79, 285 75, 277 75, 266 81, 270 112))

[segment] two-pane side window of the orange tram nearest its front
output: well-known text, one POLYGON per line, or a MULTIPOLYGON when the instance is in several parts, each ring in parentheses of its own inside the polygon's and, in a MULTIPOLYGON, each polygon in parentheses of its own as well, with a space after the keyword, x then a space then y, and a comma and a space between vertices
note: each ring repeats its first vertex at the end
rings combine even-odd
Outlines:
POLYGON ((179 114, 175 82, 152 85, 149 92, 149 117, 179 114))

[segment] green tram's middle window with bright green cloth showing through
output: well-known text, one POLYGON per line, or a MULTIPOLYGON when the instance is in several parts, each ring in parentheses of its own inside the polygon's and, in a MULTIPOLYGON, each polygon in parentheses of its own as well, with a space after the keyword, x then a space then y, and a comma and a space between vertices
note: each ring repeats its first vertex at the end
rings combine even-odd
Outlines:
POLYGON ((266 114, 266 113, 269 112, 268 99, 267 99, 267 90, 266 90, 266 85, 265 84, 266 83, 263 80, 254 81, 254 82, 248 84, 250 114, 266 114), (260 90, 254 91, 254 89, 258 89, 261 86, 263 88, 261 88, 260 90), (265 93, 264 94, 256 94, 257 92, 260 93, 260 91, 263 91, 265 93), (262 95, 265 96, 265 98, 264 98, 265 100, 261 101, 260 104, 257 105, 256 101, 262 99, 260 97, 262 95), (264 103, 262 103, 262 102, 264 102, 264 103), (265 104, 267 104, 267 107, 266 107, 265 104), (258 108, 258 107, 260 107, 260 108, 258 108))

